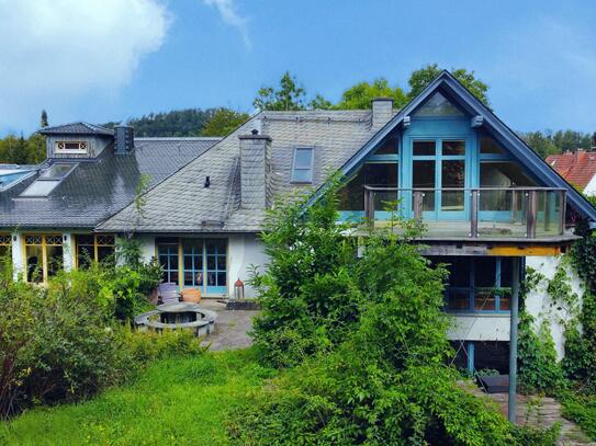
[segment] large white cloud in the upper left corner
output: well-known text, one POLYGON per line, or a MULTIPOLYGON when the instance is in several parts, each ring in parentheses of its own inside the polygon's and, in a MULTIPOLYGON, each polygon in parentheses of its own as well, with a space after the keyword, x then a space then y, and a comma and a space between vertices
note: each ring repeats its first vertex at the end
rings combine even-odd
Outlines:
POLYGON ((0 129, 43 106, 114 94, 168 24, 159 0, 0 0, 0 129))

